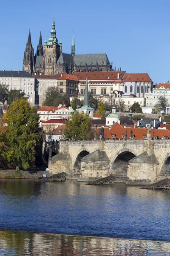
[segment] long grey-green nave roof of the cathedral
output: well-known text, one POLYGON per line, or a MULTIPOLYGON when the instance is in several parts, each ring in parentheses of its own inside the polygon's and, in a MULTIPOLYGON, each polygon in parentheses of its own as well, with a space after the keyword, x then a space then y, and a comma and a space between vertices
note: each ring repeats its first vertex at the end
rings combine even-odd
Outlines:
POLYGON ((106 53, 101 54, 76 54, 74 56, 74 65, 75 66, 102 66, 109 64, 108 56, 106 53))

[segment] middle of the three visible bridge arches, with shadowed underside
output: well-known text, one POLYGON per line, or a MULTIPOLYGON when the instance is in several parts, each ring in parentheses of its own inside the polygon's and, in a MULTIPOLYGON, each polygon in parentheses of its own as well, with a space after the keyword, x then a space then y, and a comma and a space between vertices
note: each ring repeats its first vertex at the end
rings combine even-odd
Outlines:
POLYGON ((127 178, 128 161, 136 157, 136 152, 130 148, 121 149, 111 159, 109 173, 115 177, 127 178))

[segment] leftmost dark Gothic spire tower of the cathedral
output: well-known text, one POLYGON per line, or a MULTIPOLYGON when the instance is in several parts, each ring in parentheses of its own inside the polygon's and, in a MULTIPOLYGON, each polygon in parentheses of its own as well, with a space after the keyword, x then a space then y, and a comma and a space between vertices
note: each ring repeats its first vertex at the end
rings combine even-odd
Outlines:
POLYGON ((28 42, 26 44, 26 51, 24 52, 23 71, 28 71, 33 74, 34 70, 34 48, 31 43, 31 32, 29 30, 28 42))

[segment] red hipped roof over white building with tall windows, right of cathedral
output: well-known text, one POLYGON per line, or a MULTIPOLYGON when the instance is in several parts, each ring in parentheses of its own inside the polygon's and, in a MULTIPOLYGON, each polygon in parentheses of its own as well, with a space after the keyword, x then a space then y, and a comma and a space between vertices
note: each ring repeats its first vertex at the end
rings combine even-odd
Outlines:
POLYGON ((148 73, 131 73, 125 74, 124 82, 152 82, 152 79, 148 75, 148 73))

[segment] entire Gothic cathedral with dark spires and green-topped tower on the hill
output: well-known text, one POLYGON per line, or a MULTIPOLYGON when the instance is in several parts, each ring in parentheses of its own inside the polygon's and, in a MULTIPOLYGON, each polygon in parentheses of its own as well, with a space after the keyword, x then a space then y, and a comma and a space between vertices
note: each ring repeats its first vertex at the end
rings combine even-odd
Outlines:
POLYGON ((40 32, 37 53, 34 56, 34 48, 31 43, 31 32, 29 30, 28 42, 23 58, 23 71, 37 75, 56 75, 58 72, 93 72, 93 71, 113 71, 112 63, 104 54, 76 54, 74 32, 71 45, 71 53, 62 52, 62 42, 58 43, 56 37, 55 21, 53 19, 51 36, 48 42, 42 45, 42 35, 40 32))

